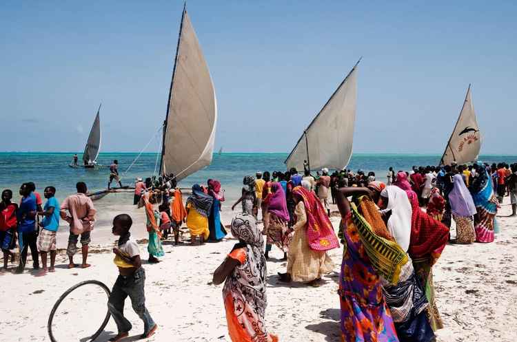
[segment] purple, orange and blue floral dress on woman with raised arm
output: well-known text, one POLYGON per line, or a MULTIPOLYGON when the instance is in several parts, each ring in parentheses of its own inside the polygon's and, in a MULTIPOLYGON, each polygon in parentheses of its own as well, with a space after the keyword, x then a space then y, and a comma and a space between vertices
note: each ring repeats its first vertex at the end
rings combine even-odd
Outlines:
POLYGON ((398 342, 381 278, 366 253, 352 213, 343 218, 343 261, 339 278, 341 341, 398 342))

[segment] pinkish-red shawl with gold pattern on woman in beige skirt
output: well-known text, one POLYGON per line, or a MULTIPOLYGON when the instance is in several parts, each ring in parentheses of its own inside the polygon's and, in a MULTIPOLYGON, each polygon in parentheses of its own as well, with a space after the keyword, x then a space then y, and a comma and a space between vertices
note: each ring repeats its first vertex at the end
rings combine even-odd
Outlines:
POLYGON ((339 247, 338 238, 334 233, 334 227, 323 209, 320 200, 301 186, 292 190, 305 204, 307 213, 307 242, 312 250, 331 250, 339 247))

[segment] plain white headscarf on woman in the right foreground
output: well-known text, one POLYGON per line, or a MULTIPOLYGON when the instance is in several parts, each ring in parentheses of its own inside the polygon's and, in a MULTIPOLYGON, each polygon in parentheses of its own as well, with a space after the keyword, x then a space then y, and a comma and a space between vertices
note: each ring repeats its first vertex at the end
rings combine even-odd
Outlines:
POLYGON ((411 238, 411 216, 413 214, 407 193, 398 186, 388 185, 381 191, 381 196, 387 197, 387 210, 392 211, 392 215, 387 222, 389 233, 393 235, 397 244, 407 252, 409 239, 411 238))

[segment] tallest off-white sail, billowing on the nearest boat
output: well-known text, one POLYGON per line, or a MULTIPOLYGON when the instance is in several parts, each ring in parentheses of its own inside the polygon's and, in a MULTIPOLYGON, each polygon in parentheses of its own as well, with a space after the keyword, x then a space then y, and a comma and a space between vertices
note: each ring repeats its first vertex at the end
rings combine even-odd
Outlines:
POLYGON ((196 32, 183 10, 163 133, 161 171, 176 180, 210 165, 217 103, 196 32))

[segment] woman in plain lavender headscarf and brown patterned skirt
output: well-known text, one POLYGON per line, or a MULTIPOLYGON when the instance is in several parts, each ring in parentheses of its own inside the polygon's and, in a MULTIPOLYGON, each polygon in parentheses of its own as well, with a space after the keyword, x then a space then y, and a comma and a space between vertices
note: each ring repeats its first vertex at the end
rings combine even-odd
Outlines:
POLYGON ((456 222, 456 243, 472 244, 476 241, 474 231, 473 215, 476 213, 476 206, 469 189, 461 175, 454 175, 454 188, 449 193, 449 204, 451 206, 452 218, 456 222))

